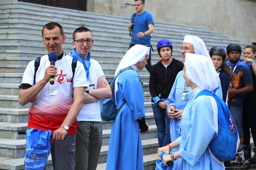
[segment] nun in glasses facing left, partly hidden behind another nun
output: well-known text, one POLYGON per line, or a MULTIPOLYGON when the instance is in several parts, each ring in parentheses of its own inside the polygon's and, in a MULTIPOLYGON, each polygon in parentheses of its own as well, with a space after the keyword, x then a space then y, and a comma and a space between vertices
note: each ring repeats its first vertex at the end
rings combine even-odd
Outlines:
MULTIPOLYGON (((203 40, 197 36, 193 35, 185 35, 183 43, 189 43, 192 44, 194 47, 194 54, 200 54, 202 57, 207 57, 211 59, 209 52, 203 42, 203 40)), ((185 44, 183 44, 186 46, 185 44)), ((191 51, 181 51, 182 52, 182 60, 185 62, 186 57, 185 54, 188 52, 192 53, 191 51)), ((200 66, 201 67, 201 66, 200 66)), ((171 141, 175 141, 178 137, 180 137, 179 128, 180 128, 180 119, 183 113, 183 110, 185 106, 188 104, 188 101, 190 100, 192 93, 191 93, 191 87, 188 87, 185 83, 185 79, 183 78, 184 70, 180 71, 175 79, 175 82, 172 86, 171 92, 169 94, 169 97, 167 99, 167 113, 169 115, 173 115, 173 111, 177 111, 175 113, 176 118, 170 117, 170 136, 171 141)), ((221 82, 218 82, 218 85, 221 88, 221 82)), ((216 95, 222 98, 222 90, 218 89, 216 91, 216 95)), ((179 150, 178 148, 172 148, 172 152, 176 152, 179 150)), ((169 152, 168 152, 169 153, 169 152)), ((173 163, 174 169, 180 169, 181 160, 177 160, 173 163)))

